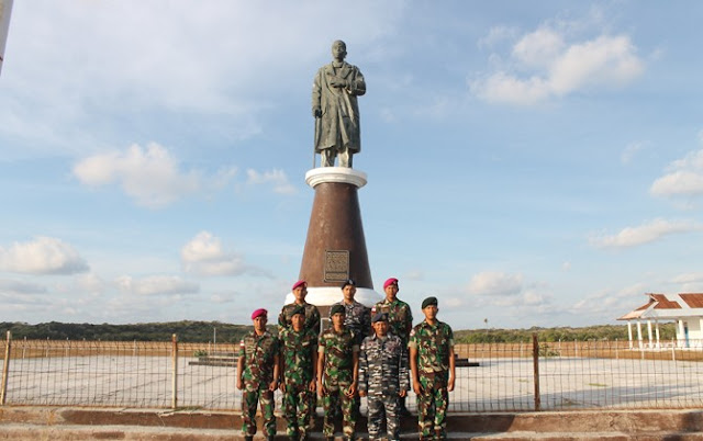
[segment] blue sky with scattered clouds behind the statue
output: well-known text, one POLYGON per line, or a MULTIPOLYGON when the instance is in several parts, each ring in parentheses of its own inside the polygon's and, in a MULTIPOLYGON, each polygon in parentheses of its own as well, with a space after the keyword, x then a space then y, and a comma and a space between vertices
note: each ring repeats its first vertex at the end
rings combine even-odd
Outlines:
POLYGON ((297 280, 310 91, 367 81, 375 287, 455 329, 703 291, 703 3, 14 2, 0 321, 247 324, 297 280))

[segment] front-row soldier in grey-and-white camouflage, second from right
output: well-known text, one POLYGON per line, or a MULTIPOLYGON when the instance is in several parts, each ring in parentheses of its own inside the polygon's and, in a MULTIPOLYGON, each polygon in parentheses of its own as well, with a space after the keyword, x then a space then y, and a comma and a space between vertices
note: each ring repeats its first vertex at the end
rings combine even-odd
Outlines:
POLYGON ((408 395, 408 351, 400 337, 389 333, 388 316, 371 319, 375 335, 364 339, 359 352, 359 395, 368 396, 370 440, 381 439, 381 418, 390 441, 400 440, 399 398, 408 395))

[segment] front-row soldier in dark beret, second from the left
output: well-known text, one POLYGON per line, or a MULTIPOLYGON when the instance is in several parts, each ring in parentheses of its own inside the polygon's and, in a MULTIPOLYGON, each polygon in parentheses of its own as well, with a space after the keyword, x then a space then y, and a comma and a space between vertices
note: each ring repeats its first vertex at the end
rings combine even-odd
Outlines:
POLYGON ((286 432, 291 440, 308 440, 310 419, 314 409, 315 377, 317 370, 317 332, 306 329, 305 308, 291 310, 290 328, 280 332, 283 382, 283 414, 288 422, 286 432))

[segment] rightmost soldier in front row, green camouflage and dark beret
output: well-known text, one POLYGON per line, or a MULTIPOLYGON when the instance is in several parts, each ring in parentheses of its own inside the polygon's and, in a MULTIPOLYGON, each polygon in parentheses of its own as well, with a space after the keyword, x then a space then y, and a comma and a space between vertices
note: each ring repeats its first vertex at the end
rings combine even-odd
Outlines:
POLYGON ((425 319, 410 333, 410 368, 417 396, 417 426, 421 440, 445 440, 449 392, 454 391, 454 333, 437 320, 437 298, 422 303, 425 319))

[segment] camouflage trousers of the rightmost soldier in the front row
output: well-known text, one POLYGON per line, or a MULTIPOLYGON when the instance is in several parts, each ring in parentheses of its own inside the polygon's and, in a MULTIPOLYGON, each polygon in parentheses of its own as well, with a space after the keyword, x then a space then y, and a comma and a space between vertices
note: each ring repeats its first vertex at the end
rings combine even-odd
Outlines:
POLYGON ((421 440, 446 440, 449 393, 443 375, 420 373, 417 430, 421 440))

